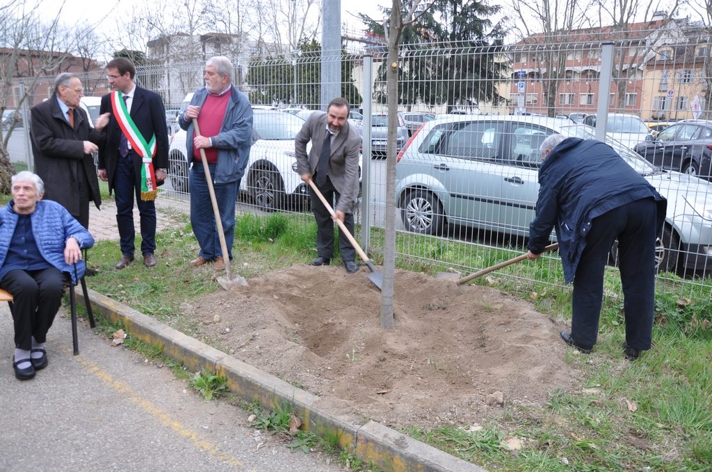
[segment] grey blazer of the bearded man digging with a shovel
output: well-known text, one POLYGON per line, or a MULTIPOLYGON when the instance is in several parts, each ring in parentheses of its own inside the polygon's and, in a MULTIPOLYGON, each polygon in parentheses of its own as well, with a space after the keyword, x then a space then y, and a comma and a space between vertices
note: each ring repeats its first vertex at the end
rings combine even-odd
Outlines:
MULTIPOLYGON (((299 175, 314 175, 319 163, 321 148, 326 134, 326 112, 314 112, 309 115, 302 129, 294 138, 294 151, 299 175), (307 143, 312 141, 312 148, 307 156, 307 143)), ((341 194, 335 210, 351 213, 351 206, 358 196, 358 153, 361 135, 350 122, 331 143, 328 176, 334 188, 341 194)))

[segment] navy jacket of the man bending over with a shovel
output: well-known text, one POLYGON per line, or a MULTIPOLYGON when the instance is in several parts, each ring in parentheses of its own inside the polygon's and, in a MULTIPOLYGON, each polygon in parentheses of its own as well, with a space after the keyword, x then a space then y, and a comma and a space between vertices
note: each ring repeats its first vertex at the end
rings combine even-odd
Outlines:
POLYGON ((608 144, 567 138, 539 169, 536 218, 529 225, 528 248, 541 254, 556 227, 565 282, 574 279, 592 220, 642 198, 657 203, 656 230, 665 222, 667 200, 608 144))

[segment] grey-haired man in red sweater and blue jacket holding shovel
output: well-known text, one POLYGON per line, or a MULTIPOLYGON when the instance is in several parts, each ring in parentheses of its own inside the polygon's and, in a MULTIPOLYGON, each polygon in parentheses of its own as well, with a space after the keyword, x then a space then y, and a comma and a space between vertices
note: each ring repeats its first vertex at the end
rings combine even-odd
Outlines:
POLYGON ((250 159, 252 107, 247 97, 232 85, 234 68, 224 56, 205 64, 205 87, 197 90, 178 124, 187 130, 186 148, 193 166, 190 170, 190 222, 200 253, 190 262, 199 267, 214 261, 223 270, 223 257, 232 259, 235 237, 235 200, 240 181, 250 159), (196 136, 193 119, 201 136, 196 136), (205 152, 229 254, 223 254, 211 210, 200 149, 205 152))

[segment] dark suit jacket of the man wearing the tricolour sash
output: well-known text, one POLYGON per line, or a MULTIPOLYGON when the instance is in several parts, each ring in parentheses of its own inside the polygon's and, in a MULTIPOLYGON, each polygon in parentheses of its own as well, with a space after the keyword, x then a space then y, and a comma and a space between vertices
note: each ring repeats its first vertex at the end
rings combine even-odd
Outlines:
MULTIPOLYGON (((106 169, 109 179, 109 192, 115 187, 116 163, 121 159, 119 155, 119 141, 121 128, 111 108, 111 94, 101 97, 100 114, 111 113, 109 124, 106 125, 99 145, 99 168, 106 169)), ((146 142, 151 141, 156 134, 156 155, 153 158, 153 168, 168 168, 168 134, 166 132, 166 112, 163 108, 161 97, 150 90, 136 86, 131 103, 131 118, 146 142)), ((141 178, 141 158, 135 151, 131 151, 134 161, 136 182, 141 178)))

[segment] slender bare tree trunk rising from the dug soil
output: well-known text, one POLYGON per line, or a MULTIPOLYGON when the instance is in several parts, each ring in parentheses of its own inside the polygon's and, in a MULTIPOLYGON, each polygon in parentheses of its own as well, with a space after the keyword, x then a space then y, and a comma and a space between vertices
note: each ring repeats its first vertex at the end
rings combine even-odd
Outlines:
POLYGON ((388 134, 386 157, 386 220, 383 242, 381 328, 393 329, 393 282, 396 264, 396 131, 398 127, 398 43, 401 36, 401 4, 393 0, 388 36, 388 134))

